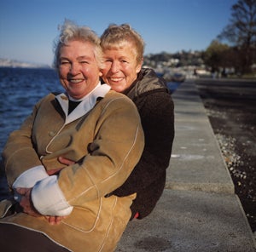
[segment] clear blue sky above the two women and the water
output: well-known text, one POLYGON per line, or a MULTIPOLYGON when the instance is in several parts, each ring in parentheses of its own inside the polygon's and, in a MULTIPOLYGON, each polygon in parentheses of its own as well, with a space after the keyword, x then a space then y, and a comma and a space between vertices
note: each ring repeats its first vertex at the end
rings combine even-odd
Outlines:
POLYGON ((65 18, 100 36, 129 23, 145 54, 204 50, 228 25, 237 0, 0 0, 0 58, 51 65, 52 45, 65 18))

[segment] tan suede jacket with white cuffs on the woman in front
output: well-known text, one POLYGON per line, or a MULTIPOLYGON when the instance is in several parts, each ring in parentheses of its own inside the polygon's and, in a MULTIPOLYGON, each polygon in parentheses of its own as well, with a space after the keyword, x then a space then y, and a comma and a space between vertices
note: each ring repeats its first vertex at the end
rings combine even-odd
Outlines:
POLYGON ((44 217, 17 213, 2 222, 43 232, 71 251, 112 251, 131 217, 135 195, 105 196, 125 182, 140 159, 143 129, 136 106, 123 94, 110 90, 105 97, 96 96, 92 109, 86 107, 88 102, 94 101, 84 102, 67 117, 67 96, 59 95, 57 100, 49 94, 9 136, 3 150, 9 186, 15 187, 20 176, 21 181, 26 178, 27 171, 41 168, 41 175, 27 182, 35 188, 36 209, 42 215, 63 210, 67 219, 50 226, 44 217), (60 156, 76 163, 59 175, 42 175, 43 166, 47 170, 63 167, 57 160, 60 156), (53 201, 57 209, 51 202, 54 192, 61 198, 53 201))

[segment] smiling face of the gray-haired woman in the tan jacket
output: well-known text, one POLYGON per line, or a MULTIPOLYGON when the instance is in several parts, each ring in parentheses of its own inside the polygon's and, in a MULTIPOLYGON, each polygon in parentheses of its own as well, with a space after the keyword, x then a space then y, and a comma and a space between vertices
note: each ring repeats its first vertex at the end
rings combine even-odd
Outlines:
POLYGON ((102 75, 93 45, 78 40, 61 47, 58 71, 61 85, 76 100, 89 94, 102 75))

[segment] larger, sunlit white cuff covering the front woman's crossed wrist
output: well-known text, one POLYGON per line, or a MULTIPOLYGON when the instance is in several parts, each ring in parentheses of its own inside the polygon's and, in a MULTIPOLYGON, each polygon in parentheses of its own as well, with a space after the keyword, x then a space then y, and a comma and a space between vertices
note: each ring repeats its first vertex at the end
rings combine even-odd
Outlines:
POLYGON ((61 192, 57 178, 51 175, 38 181, 32 189, 32 203, 41 215, 65 216, 73 210, 61 192))

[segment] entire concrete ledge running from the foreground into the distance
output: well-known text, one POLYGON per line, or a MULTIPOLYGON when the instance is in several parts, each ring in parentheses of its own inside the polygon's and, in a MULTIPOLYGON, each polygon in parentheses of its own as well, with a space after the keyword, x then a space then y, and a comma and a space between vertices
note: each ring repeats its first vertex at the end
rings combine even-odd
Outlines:
POLYGON ((182 83, 172 97, 176 136, 166 189, 151 215, 130 221, 116 251, 255 252, 195 83, 182 83))

